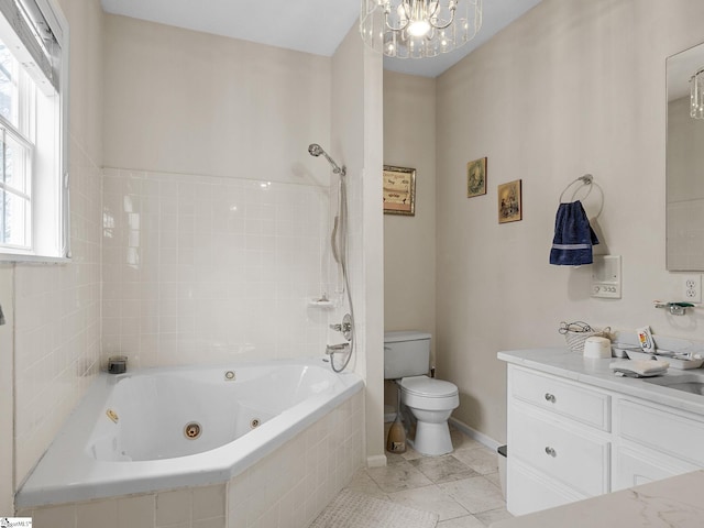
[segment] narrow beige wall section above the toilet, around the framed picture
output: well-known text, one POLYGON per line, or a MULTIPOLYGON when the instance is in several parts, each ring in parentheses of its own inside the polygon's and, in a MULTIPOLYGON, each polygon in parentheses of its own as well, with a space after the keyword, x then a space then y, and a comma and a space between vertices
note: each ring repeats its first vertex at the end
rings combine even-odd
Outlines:
POLYGON ((436 337, 436 79, 384 72, 384 164, 416 169, 416 215, 384 215, 384 329, 436 337))

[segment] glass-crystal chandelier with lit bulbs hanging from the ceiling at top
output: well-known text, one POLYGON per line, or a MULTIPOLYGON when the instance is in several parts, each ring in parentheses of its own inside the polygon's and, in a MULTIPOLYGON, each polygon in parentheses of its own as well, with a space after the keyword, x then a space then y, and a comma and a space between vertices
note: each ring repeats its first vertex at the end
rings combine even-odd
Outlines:
POLYGON ((388 57, 435 57, 463 46, 480 28, 482 0, 362 0, 362 38, 388 57))

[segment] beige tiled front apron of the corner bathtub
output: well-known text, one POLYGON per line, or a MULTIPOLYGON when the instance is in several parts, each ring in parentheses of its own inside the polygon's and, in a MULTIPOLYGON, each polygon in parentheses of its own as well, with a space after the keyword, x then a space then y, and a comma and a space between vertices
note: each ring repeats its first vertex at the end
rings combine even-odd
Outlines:
POLYGON ((21 510, 35 528, 305 528, 362 466, 363 392, 229 482, 21 510))

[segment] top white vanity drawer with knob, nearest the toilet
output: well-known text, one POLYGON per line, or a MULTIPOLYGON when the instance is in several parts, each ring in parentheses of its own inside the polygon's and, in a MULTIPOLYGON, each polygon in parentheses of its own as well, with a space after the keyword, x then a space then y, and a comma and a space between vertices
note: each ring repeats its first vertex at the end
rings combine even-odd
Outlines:
POLYGON ((508 372, 513 397, 602 431, 610 431, 609 395, 513 365, 508 372))

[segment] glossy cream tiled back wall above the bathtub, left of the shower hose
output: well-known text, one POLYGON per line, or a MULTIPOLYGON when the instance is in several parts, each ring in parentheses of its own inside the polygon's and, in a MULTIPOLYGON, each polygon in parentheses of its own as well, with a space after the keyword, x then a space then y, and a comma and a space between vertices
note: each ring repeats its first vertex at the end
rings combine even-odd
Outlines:
MULTIPOLYGON (((329 187, 108 168, 102 359, 135 366, 324 350, 329 187), (275 331, 273 331, 275 330, 275 331)), ((337 280, 333 277, 332 282, 337 280)))

